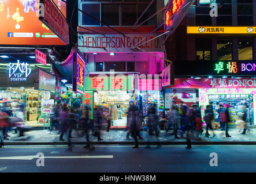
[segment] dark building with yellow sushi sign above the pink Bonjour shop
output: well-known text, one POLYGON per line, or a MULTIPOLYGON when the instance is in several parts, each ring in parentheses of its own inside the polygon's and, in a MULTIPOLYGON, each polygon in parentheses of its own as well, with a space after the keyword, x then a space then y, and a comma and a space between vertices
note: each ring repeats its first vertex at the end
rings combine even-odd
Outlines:
POLYGON ((255 25, 253 0, 196 1, 166 41, 168 59, 175 63, 171 87, 196 89, 202 113, 209 102, 215 112, 222 103, 231 124, 246 109, 247 121, 255 125, 255 25))

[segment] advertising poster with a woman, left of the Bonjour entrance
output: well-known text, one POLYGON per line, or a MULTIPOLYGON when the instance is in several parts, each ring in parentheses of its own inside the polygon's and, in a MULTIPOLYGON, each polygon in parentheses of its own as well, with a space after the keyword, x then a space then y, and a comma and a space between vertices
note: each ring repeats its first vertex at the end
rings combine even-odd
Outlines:
POLYGON ((185 88, 166 89, 165 93, 165 109, 172 108, 172 105, 184 102, 188 107, 196 103, 196 90, 185 88))

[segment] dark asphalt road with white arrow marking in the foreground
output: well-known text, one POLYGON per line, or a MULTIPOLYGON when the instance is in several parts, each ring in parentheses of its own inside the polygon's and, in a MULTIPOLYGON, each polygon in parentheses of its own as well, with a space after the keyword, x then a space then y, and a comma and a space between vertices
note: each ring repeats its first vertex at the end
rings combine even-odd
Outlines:
POLYGON ((0 148, 0 173, 256 172, 256 145, 194 145, 190 150, 184 145, 144 147, 95 145, 88 150, 76 145, 69 150, 66 145, 7 145, 0 148), (211 154, 215 154, 214 166, 211 154), (43 162, 36 155, 43 156, 43 162))

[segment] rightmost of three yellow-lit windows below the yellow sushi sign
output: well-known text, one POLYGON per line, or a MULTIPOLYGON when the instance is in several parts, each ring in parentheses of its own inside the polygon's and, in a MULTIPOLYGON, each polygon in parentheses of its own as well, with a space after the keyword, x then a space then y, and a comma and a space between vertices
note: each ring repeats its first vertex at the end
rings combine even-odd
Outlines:
POLYGON ((253 40, 251 39, 238 40, 238 59, 253 60, 253 40))

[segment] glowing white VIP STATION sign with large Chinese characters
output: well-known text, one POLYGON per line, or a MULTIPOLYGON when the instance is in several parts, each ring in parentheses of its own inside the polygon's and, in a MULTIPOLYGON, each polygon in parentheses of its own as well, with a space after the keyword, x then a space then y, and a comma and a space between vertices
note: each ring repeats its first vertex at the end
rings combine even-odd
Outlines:
POLYGON ((20 60, 17 60, 16 64, 10 63, 7 70, 9 70, 10 81, 27 81, 27 77, 31 74, 29 64, 20 63, 20 60))

